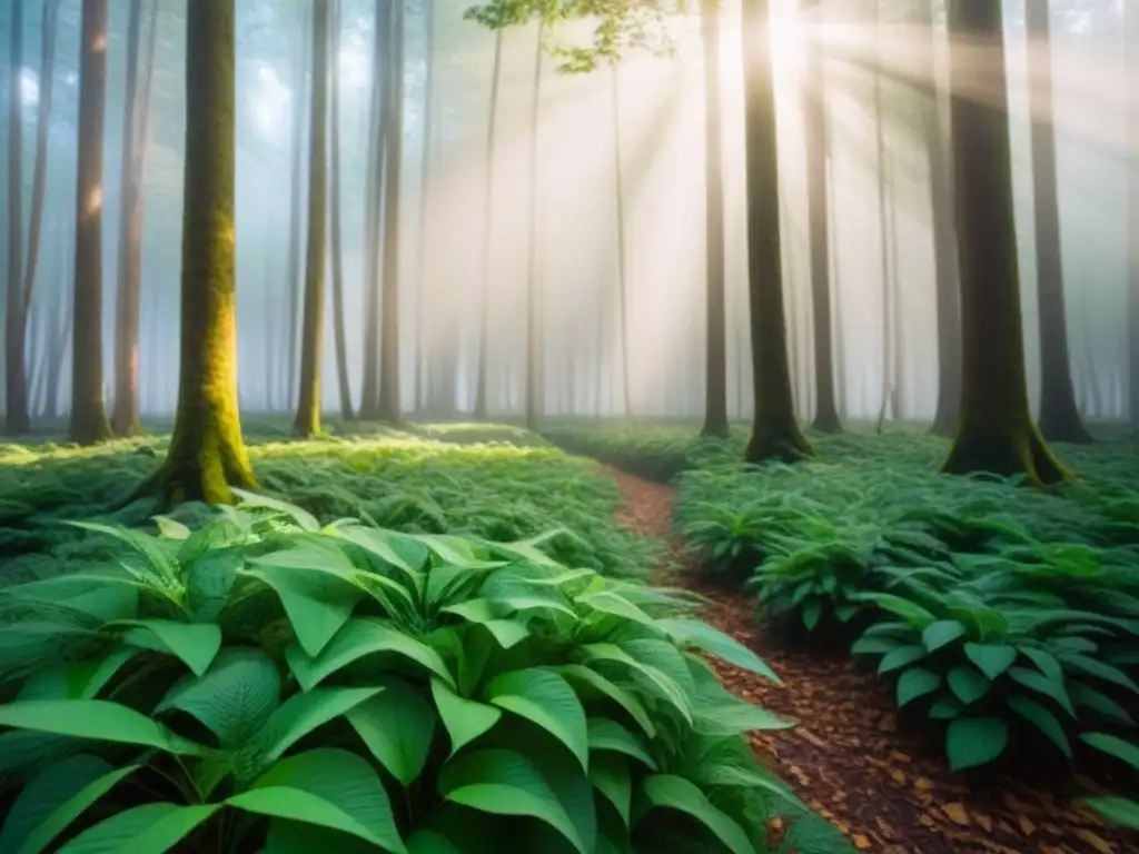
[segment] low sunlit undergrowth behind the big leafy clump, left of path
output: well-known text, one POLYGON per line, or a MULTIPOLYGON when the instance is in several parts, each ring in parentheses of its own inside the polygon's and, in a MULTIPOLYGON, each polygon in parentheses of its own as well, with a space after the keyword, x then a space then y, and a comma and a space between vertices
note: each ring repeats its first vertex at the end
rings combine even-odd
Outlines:
MULTIPOLYGON (((550 547, 557 559, 621 577, 646 577, 659 553, 657 543, 614 520, 620 494, 611 478, 519 428, 352 426, 297 442, 287 437, 287 425, 267 421, 253 424, 248 442, 269 494, 322 522, 354 517, 405 532, 506 541, 559 528, 565 533, 550 547)), ((154 470, 166 443, 155 435, 90 449, 0 444, 0 584, 107 557, 105 542, 64 520, 147 524, 149 501, 108 508, 154 470)), ((191 527, 211 515, 204 506, 177 514, 191 527)))

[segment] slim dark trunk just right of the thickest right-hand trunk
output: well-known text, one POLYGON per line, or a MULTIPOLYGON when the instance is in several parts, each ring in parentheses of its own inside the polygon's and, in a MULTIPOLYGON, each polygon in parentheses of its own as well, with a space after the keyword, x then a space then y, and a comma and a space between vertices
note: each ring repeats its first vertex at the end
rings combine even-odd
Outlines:
POLYGON ((1036 227, 1036 294, 1040 317, 1040 433, 1050 442, 1091 442, 1080 420, 1068 360, 1060 212, 1056 188, 1049 0, 1025 6, 1029 36, 1029 99, 1032 116, 1032 183, 1036 227))

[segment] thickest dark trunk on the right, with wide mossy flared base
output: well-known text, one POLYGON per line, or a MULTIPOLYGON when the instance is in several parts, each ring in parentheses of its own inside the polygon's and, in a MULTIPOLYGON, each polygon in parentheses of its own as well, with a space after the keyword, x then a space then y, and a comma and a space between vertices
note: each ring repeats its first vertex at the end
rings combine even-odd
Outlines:
POLYGON ((1056 483, 1066 473, 1029 412, 1000 5, 952 0, 950 42, 964 358, 959 427, 943 470, 1056 483), (978 84, 983 99, 962 95, 978 84))

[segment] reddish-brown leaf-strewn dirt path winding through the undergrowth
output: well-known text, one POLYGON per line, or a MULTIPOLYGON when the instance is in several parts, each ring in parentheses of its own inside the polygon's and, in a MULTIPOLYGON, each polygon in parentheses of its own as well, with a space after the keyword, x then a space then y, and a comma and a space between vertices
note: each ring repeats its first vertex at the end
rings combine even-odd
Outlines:
MULTIPOLYGON (((691 566, 672 536, 673 492, 607 469, 624 496, 618 518, 672 543, 672 558, 691 566)), ((669 583, 694 588, 691 575, 669 583)), ((898 728, 888 689, 857 671, 849 657, 777 648, 743 597, 700 589, 705 618, 762 656, 784 680, 771 684, 718 664, 736 693, 800 722, 761 732, 752 744, 808 804, 862 851, 882 854, 1124 854, 1139 844, 1044 791, 1011 785, 977 790, 949 772, 917 733, 898 728)), ((804 852, 804 854, 810 854, 804 852)))

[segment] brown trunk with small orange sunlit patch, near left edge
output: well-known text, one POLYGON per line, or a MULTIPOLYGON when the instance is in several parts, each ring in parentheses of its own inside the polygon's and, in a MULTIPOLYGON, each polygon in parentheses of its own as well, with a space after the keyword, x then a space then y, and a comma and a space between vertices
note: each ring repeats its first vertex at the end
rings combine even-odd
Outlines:
POLYGON ((107 2, 84 0, 80 44, 75 343, 68 435, 81 445, 110 437, 103 402, 103 128, 107 106, 107 2))

